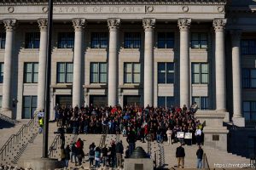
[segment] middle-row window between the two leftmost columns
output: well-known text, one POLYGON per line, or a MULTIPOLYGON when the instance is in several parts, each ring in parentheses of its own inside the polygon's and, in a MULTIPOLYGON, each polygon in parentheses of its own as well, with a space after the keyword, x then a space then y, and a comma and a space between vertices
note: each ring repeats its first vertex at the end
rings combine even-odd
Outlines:
POLYGON ((24 63, 24 82, 38 82, 38 63, 24 63))

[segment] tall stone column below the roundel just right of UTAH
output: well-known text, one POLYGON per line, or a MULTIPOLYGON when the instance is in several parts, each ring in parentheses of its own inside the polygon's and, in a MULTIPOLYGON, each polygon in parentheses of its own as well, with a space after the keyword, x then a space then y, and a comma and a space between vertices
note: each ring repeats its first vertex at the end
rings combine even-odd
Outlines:
POLYGON ((143 19, 144 42, 144 106, 154 105, 154 26, 155 19, 143 19))

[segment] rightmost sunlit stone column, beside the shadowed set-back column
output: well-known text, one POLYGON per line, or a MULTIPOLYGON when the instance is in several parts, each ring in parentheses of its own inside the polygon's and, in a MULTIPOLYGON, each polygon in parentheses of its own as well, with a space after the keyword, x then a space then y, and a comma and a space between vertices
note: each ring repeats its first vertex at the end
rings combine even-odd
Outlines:
POLYGON ((215 77, 216 77, 216 110, 226 111, 226 71, 224 53, 225 19, 214 19, 215 30, 215 77))

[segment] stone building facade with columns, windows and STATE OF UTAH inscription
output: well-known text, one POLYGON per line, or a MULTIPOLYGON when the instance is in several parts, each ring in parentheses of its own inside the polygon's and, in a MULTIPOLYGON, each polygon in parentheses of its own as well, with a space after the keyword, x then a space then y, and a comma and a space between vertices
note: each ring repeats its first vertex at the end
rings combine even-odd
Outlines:
MULTIPOLYGON (((249 0, 55 0, 50 117, 56 103, 197 102, 252 125, 255 10, 249 0)), ((0 3, 2 111, 16 119, 44 109, 47 11, 46 0, 0 3)))

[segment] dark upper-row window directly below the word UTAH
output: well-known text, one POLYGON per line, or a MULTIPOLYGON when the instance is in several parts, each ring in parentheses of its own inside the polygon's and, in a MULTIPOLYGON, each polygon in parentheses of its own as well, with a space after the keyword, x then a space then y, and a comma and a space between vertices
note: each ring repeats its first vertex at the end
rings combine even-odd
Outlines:
POLYGON ((141 33, 125 32, 125 48, 141 48, 141 33))

